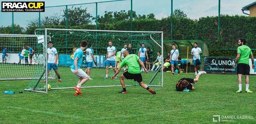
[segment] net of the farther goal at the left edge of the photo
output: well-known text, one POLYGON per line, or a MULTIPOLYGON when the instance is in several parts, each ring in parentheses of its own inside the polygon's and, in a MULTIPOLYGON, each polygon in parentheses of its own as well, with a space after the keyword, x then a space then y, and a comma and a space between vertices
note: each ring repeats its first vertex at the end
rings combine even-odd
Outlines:
MULTIPOLYGON (((0 80, 33 79, 42 73, 37 67, 43 64, 39 59, 44 55, 38 52, 36 35, 0 34, 0 47, 0 80)), ((55 78, 53 71, 48 78, 55 78)))

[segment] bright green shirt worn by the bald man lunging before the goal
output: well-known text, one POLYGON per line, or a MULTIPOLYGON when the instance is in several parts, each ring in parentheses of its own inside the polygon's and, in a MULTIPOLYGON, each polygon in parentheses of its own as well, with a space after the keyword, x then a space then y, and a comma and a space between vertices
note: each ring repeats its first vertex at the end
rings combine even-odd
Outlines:
POLYGON ((127 55, 122 63, 120 64, 120 67, 124 67, 124 65, 128 66, 128 72, 132 74, 139 74, 140 73, 140 64, 138 62, 138 57, 135 54, 129 54, 127 55))

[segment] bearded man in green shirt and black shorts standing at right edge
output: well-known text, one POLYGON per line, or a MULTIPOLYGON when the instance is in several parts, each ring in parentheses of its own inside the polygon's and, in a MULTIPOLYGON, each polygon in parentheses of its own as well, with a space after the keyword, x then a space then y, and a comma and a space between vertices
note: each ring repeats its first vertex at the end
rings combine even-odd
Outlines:
POLYGON ((255 69, 254 59, 252 55, 252 50, 250 47, 245 45, 246 40, 244 38, 239 39, 237 48, 236 62, 233 67, 236 67, 237 64, 237 75, 238 75, 238 87, 239 90, 236 93, 242 93, 242 75, 245 75, 245 93, 252 93, 249 90, 249 75, 250 75, 250 66, 249 66, 249 56, 252 59, 252 69, 255 69))

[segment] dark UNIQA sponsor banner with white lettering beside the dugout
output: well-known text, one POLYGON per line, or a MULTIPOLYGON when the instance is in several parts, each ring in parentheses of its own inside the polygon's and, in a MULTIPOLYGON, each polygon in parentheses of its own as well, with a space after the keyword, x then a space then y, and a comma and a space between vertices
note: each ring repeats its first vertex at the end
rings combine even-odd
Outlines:
POLYGON ((204 58, 205 72, 236 73, 236 58, 204 58))

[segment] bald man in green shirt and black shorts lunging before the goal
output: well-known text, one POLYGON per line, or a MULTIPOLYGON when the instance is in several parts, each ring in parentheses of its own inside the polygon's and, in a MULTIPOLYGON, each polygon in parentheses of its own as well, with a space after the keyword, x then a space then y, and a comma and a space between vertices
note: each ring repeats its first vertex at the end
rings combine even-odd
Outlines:
POLYGON ((145 72, 148 73, 148 70, 144 66, 144 63, 140 60, 140 57, 138 57, 135 54, 129 54, 127 50, 123 52, 124 54, 124 60, 120 64, 120 67, 117 69, 114 76, 111 77, 111 79, 115 79, 116 75, 120 72, 121 68, 124 67, 124 65, 128 66, 128 72, 124 72, 120 76, 120 83, 123 87, 123 90, 119 93, 127 93, 125 89, 125 83, 124 79, 133 79, 134 81, 137 81, 140 86, 147 89, 150 93, 156 94, 156 92, 152 89, 149 89, 146 84, 143 84, 142 82, 142 76, 140 73, 140 65, 142 68, 144 68, 145 72))

